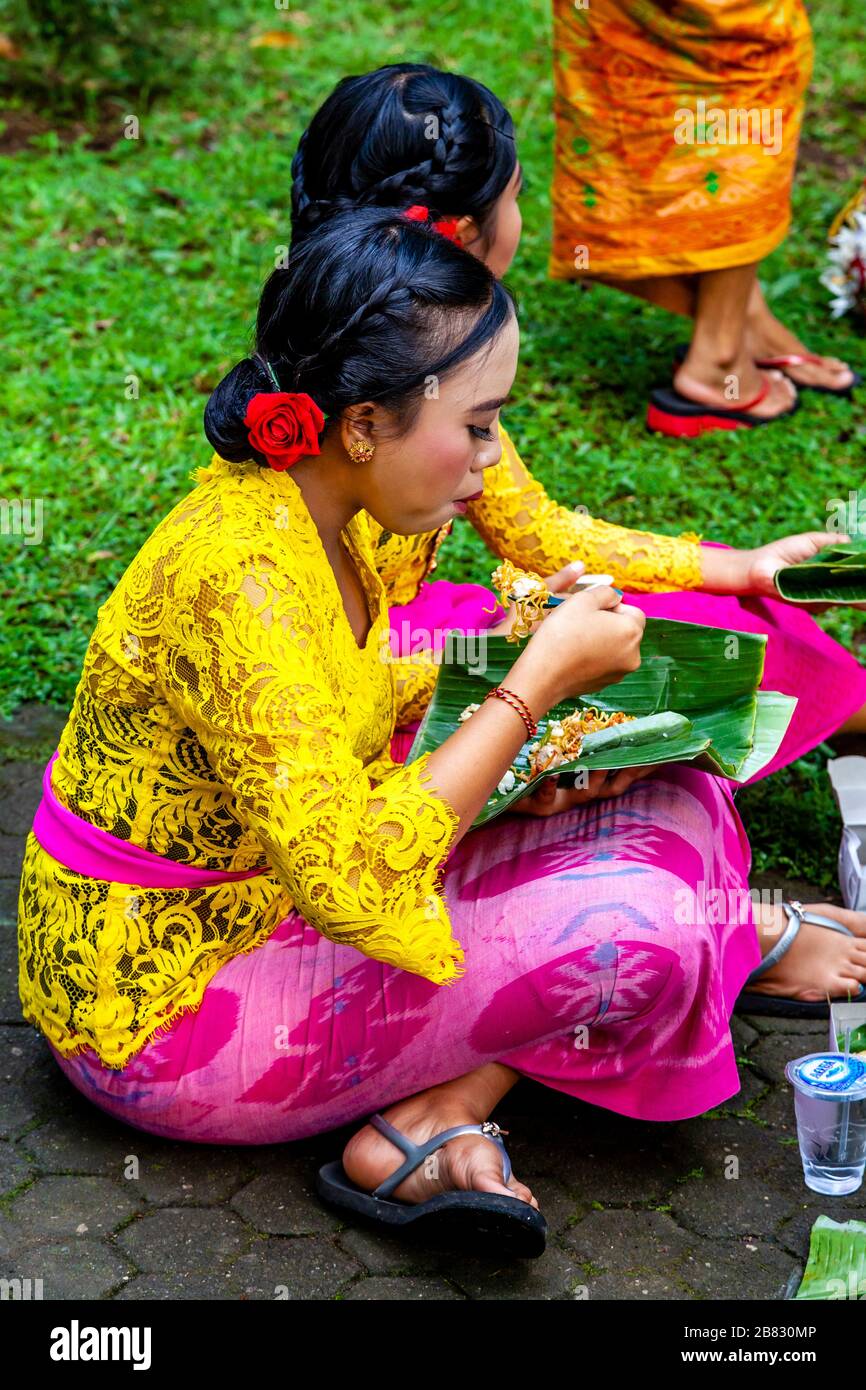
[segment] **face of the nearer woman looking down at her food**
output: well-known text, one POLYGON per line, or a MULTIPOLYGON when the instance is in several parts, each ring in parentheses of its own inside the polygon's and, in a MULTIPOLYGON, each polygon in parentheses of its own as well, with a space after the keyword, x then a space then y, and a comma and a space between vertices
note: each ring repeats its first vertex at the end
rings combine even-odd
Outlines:
POLYGON ((357 481, 361 505, 386 531, 434 531, 481 495, 485 468, 502 457, 496 425, 514 381, 518 339, 512 313, 474 357, 441 382, 431 378, 409 434, 374 428, 375 453, 357 481))

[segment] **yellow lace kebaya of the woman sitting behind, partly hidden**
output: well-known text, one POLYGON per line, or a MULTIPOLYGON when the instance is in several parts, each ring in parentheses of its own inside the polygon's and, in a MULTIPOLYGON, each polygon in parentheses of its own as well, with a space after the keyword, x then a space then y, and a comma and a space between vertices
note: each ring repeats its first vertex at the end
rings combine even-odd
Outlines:
MULTIPOLYGON (((499 439, 502 459, 484 474, 484 495, 468 503, 466 514, 500 560, 512 560, 545 578, 573 560, 582 560, 587 573, 610 574, 619 588, 631 594, 701 588, 698 535, 631 531, 571 512, 548 496, 502 425, 499 439)), ((392 535, 373 518, 370 524, 389 603, 410 603, 423 580, 435 570, 436 552, 452 523, 421 535, 392 535)))

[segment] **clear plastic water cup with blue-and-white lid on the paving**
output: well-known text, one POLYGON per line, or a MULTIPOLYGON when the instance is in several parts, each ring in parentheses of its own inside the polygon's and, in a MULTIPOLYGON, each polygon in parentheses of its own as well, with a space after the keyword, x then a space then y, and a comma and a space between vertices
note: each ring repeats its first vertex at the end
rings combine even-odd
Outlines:
POLYGON ((830 1197, 856 1191, 866 1169, 866 1062, 809 1052, 788 1062, 785 1076, 806 1187, 830 1197))

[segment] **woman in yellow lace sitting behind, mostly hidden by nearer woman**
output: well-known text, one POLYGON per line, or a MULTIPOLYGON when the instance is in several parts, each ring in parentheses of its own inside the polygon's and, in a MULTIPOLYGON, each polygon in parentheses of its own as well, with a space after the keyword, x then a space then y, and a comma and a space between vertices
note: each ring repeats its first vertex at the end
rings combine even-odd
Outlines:
MULTIPOLYGON (((520 242, 521 170, 512 118, 480 82, 427 64, 398 63, 343 78, 300 138, 292 165, 293 236, 303 238, 335 208, 375 203, 425 204, 441 225, 495 275, 505 275, 520 242)), ((587 331, 596 332, 596 324, 587 331)), ((763 684, 798 698, 776 759, 784 766, 840 728, 866 730, 866 671, 812 617, 778 600, 773 575, 840 537, 806 532, 755 550, 701 543, 687 532, 659 535, 612 525, 581 505, 550 498, 499 425, 502 460, 466 518, 493 555, 573 582, 566 566, 607 574, 655 617, 708 623, 767 635, 763 684)), ((492 594, 478 585, 424 584, 452 523, 418 537, 373 524, 377 567, 392 607, 395 651, 413 632, 442 642, 442 628, 485 626, 492 594)), ((410 645, 420 645, 417 642, 410 645)), ((435 669, 418 669, 418 694, 435 669)), ((407 733, 411 734, 411 726, 407 733)), ((399 748, 407 746, 400 739, 399 748)))

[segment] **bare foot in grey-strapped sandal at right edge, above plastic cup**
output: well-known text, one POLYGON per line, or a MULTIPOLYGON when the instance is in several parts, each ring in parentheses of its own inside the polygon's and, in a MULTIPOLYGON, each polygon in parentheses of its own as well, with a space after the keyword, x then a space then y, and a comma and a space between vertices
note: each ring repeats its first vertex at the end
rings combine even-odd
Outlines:
MULTIPOLYGON (((855 935, 848 937, 842 931, 803 922, 781 960, 751 984, 749 992, 753 990, 755 994, 784 995, 803 1002, 826 999, 827 995, 831 999, 856 995, 860 984, 866 983, 866 912, 849 912, 830 902, 803 906, 806 912, 840 922, 855 935)), ((760 927, 758 931, 763 956, 776 945, 785 927, 787 917, 780 908, 776 926, 760 927)))

